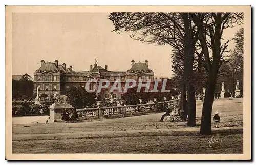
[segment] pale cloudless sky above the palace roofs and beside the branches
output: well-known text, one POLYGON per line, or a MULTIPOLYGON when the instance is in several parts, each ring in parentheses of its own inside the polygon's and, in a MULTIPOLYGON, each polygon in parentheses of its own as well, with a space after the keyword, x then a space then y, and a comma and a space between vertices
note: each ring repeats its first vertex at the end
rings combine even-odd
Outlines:
MULTIPOLYGON (((129 32, 112 32, 109 13, 13 13, 12 74, 33 73, 40 61, 58 60, 75 71, 90 70, 95 59, 110 71, 127 71, 131 60, 144 62, 157 77, 172 77, 169 45, 156 46, 129 37, 129 32)), ((224 31, 224 40, 232 39, 241 28, 224 31)), ((229 48, 234 47, 230 42, 229 48)))

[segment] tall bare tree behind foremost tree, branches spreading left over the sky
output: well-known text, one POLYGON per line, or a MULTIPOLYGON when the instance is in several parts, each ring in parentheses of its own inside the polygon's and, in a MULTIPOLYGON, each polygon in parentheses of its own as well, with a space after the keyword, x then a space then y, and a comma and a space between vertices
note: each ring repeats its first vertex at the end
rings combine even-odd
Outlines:
MULTIPOLYGON (((188 91, 188 126, 195 126, 196 101, 193 64, 198 32, 189 13, 111 13, 115 32, 132 31, 131 38, 156 45, 170 45, 184 54, 184 85, 188 91)), ((182 90, 185 109, 185 90, 182 90)))

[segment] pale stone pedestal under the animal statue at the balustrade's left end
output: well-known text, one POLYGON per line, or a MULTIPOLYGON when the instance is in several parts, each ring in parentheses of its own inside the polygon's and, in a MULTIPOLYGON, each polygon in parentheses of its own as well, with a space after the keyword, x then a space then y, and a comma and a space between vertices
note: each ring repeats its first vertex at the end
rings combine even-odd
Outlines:
POLYGON ((55 121, 61 121, 62 118, 62 113, 65 111, 65 109, 68 112, 72 112, 73 106, 70 104, 53 104, 50 105, 49 110, 50 110, 50 119, 49 123, 53 123, 55 121))

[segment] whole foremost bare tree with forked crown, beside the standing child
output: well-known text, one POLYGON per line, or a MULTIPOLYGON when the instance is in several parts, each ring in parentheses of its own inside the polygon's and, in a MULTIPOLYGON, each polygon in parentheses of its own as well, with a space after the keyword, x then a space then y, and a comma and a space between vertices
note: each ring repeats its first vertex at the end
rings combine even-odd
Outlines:
POLYGON ((223 31, 236 23, 242 23, 243 13, 192 13, 191 16, 199 31, 198 37, 207 71, 200 133, 211 134, 211 110, 216 80, 222 64, 223 53, 229 51, 227 47, 230 40, 224 44, 221 43, 223 31), (212 54, 209 53, 209 49, 212 50, 212 54))

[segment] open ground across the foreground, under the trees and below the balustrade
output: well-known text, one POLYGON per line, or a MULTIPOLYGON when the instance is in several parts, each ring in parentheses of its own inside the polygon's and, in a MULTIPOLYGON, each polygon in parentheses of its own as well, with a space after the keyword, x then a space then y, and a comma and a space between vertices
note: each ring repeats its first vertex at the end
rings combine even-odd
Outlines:
MULTIPOLYGON (((214 102, 220 129, 201 136, 186 122, 157 122, 163 113, 80 123, 13 125, 13 153, 243 153, 242 99, 214 102), (239 103, 240 102, 240 103, 239 103), (221 139, 213 143, 211 139, 221 139)), ((212 124, 214 125, 214 124, 212 124)))

